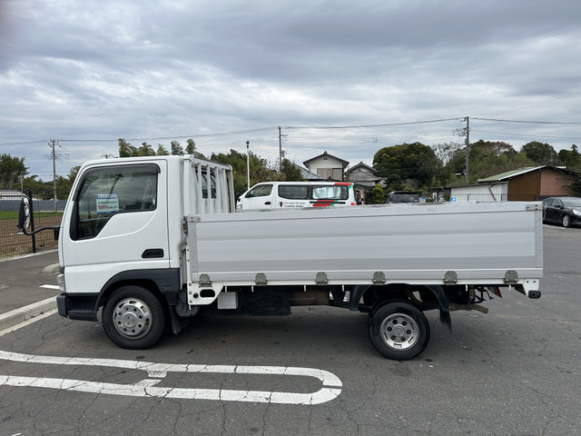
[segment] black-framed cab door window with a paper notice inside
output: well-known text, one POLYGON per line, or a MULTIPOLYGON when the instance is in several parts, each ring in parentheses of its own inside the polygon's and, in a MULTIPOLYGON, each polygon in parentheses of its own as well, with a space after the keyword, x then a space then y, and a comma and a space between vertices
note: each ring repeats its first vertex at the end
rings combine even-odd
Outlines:
POLYGON ((153 211, 159 172, 157 165, 143 164, 85 173, 74 199, 71 239, 94 238, 117 213, 153 211))

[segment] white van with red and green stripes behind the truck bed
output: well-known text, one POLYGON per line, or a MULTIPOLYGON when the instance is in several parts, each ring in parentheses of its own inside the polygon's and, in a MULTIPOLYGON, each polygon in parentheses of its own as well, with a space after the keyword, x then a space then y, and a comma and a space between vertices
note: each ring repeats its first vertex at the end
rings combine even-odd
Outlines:
POLYGON ((339 205, 355 205, 353 183, 264 182, 241 194, 236 211, 339 205))

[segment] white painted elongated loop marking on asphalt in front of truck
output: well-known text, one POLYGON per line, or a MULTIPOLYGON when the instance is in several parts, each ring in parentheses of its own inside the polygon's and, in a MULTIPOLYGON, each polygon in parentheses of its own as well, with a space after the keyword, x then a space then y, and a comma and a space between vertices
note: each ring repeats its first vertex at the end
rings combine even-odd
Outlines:
POLYGON ((272 404, 312 405, 336 399, 339 397, 342 388, 342 382, 335 374, 315 368, 170 364, 115 359, 40 356, 34 354, 21 354, 18 352, 4 352, 1 350, 0 360, 55 365, 104 366, 142 370, 147 372, 148 377, 150 377, 149 379, 143 379, 142 381, 133 384, 0 375, 0 386, 36 387, 56 389, 60 391, 81 391, 131 397, 160 397, 188 400, 245 401, 268 402, 272 404), (294 375, 300 377, 314 377, 321 381, 322 387, 319 391, 311 393, 156 387, 155 385, 162 381, 168 372, 294 375))

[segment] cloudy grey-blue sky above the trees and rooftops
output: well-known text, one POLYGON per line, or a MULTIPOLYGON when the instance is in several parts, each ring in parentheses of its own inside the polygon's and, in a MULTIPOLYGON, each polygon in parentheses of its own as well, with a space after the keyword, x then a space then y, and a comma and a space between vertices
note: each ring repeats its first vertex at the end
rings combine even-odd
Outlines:
POLYGON ((463 143, 467 116, 471 142, 570 149, 579 17, 579 0, 0 0, 0 154, 44 181, 49 140, 62 175, 120 137, 370 164, 463 143))

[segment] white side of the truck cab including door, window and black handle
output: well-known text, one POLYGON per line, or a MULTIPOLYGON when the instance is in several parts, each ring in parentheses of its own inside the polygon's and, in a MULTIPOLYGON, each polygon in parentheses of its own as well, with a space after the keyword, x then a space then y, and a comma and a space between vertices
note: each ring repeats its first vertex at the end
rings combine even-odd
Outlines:
POLYGON ((120 272, 169 268, 167 163, 95 165, 75 183, 60 233, 68 293, 98 293, 120 272))

